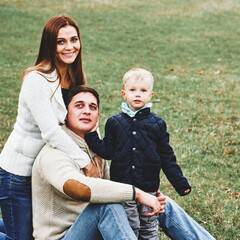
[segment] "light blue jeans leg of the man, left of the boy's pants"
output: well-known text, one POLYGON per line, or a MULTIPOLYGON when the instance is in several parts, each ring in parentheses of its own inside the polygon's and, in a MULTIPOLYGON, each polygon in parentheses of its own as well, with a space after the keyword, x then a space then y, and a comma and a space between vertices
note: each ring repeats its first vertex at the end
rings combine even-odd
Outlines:
POLYGON ((89 204, 62 240, 137 240, 121 204, 89 204))

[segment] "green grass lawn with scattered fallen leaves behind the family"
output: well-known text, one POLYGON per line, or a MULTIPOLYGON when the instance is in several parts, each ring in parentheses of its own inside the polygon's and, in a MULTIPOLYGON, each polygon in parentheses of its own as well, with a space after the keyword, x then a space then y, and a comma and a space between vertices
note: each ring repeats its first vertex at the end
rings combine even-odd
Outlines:
MULTIPOLYGON (((88 84, 101 96, 100 130, 117 112, 123 74, 155 78, 152 110, 168 124, 192 193, 160 189, 216 239, 240 239, 240 4, 237 0, 1 1, 0 147, 15 122, 22 71, 34 64, 45 22, 79 24, 88 84)), ((167 239, 161 234, 162 239, 167 239)))

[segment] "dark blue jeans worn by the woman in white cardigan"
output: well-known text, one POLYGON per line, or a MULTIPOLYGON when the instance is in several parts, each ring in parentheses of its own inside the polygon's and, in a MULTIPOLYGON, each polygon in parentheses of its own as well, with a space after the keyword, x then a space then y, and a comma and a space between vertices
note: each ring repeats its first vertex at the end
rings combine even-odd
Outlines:
POLYGON ((31 177, 17 176, 0 168, 0 205, 6 239, 33 239, 31 201, 31 177))

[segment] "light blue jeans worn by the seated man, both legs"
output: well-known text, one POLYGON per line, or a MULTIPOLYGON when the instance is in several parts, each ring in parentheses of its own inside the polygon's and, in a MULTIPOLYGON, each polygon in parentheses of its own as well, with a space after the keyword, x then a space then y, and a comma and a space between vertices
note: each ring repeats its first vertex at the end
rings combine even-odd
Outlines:
MULTIPOLYGON (((167 197, 159 226, 172 240, 213 240, 178 204, 167 197)), ((89 204, 62 240, 136 239, 120 204, 89 204), (126 235, 127 234, 127 235, 126 235)))

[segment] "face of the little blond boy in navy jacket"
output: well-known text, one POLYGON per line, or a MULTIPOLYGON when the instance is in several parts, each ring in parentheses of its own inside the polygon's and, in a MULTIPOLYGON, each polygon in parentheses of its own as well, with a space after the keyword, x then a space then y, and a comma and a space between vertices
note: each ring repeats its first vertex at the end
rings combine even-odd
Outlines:
POLYGON ((128 102, 130 109, 135 112, 151 100, 153 92, 150 82, 148 80, 129 79, 124 90, 122 90, 122 96, 128 102))

